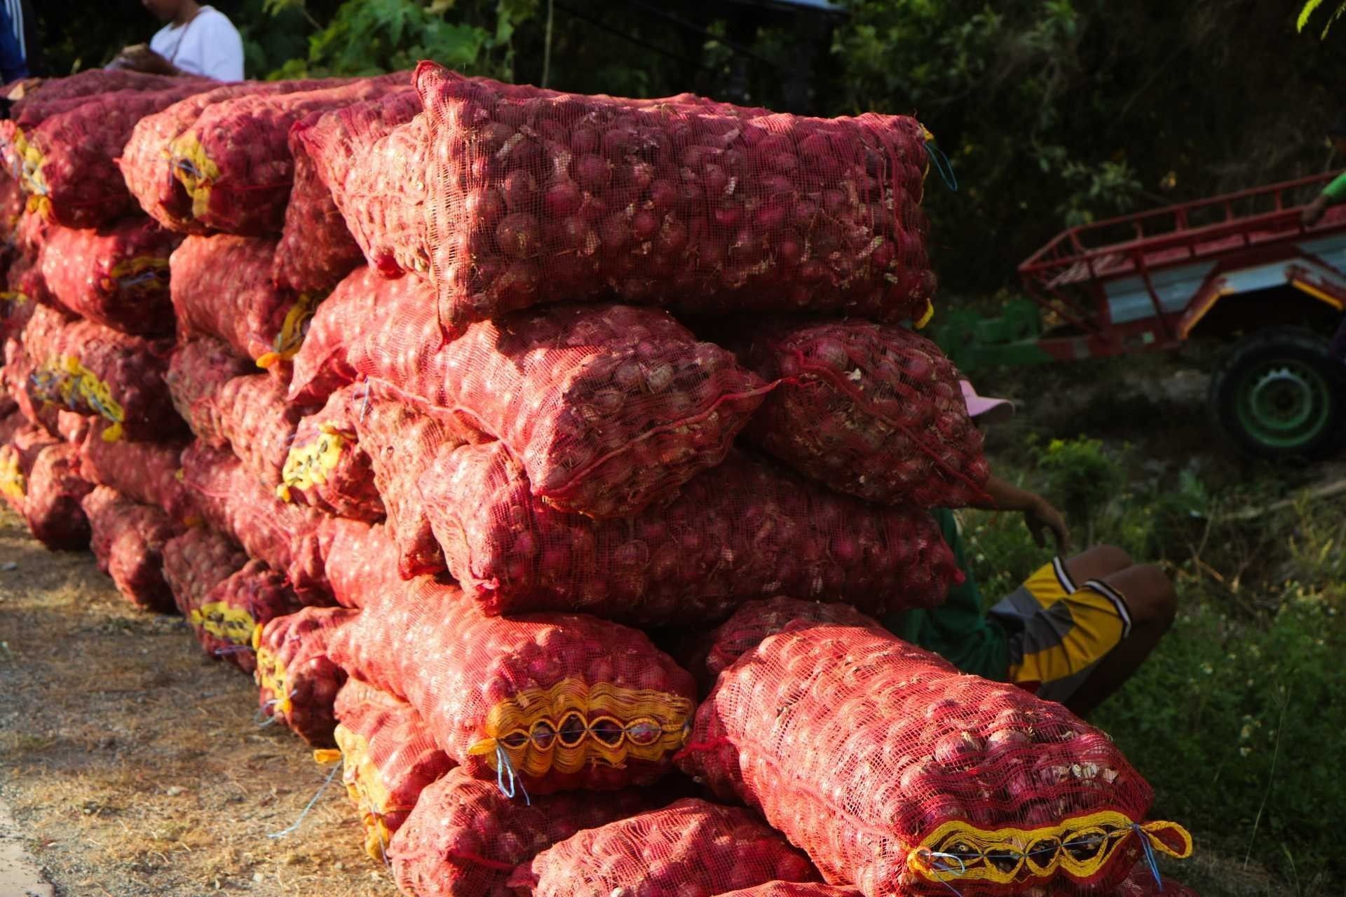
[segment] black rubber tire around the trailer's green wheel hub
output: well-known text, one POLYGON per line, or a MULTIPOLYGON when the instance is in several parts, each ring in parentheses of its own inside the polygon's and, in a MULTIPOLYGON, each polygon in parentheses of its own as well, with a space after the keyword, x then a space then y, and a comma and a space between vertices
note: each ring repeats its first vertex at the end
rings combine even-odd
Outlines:
POLYGON ((1303 327, 1268 327, 1234 346, 1210 378, 1210 413, 1215 429, 1240 455, 1271 461, 1315 461, 1338 452, 1346 440, 1346 366, 1327 355, 1327 340, 1303 327), (1316 374, 1326 383, 1327 420, 1294 445, 1268 444, 1240 414, 1249 379, 1265 375, 1277 362, 1316 374))

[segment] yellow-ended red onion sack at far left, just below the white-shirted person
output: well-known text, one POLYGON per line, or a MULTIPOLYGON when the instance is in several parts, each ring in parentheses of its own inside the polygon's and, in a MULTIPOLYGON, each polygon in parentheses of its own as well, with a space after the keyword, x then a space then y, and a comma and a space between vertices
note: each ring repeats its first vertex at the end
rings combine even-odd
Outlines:
POLYGON ((97 227, 135 208, 116 159, 136 122, 201 93, 206 82, 167 90, 104 94, 16 134, 23 188, 43 215, 65 227, 97 227))

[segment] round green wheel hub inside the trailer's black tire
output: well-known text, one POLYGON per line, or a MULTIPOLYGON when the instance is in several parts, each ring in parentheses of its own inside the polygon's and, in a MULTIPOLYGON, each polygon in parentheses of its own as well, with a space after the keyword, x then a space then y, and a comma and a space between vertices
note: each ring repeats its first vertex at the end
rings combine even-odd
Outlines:
POLYGON ((1306 445, 1327 426, 1329 390, 1327 381, 1308 364, 1291 359, 1267 362, 1238 385, 1238 421, 1264 445, 1306 445))

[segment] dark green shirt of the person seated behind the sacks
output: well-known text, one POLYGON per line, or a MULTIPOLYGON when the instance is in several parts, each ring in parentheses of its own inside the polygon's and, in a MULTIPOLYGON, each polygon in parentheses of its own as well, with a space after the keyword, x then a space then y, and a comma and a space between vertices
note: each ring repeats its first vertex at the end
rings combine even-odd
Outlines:
POLYGON ((907 611, 887 617, 883 625, 895 636, 934 651, 964 672, 1003 682, 1010 674, 1010 647, 1004 628, 988 620, 981 590, 972 576, 953 511, 935 508, 944 541, 966 580, 949 589, 945 602, 931 611, 907 611))

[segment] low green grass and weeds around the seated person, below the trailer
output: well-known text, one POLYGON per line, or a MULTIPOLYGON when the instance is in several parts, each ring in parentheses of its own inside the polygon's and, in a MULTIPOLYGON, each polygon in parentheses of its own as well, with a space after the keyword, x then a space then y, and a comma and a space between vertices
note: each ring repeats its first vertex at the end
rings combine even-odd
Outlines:
MULTIPOLYGON (((999 472, 1069 508, 1077 533, 1092 523, 1097 541, 1158 559, 1175 580, 1172 631, 1094 719, 1155 785, 1155 815, 1193 830, 1198 859, 1175 875, 1207 896, 1335 893, 1346 873, 1330 822, 1346 807, 1339 499, 1248 514, 1287 483, 1245 480, 1244 468, 1198 473, 1097 438, 1001 455, 999 472), (1199 862, 1211 855, 1215 869, 1199 862), (1272 881, 1236 886, 1245 861, 1272 881)), ((988 600, 1050 557, 1016 515, 968 512, 965 524, 988 600)))

